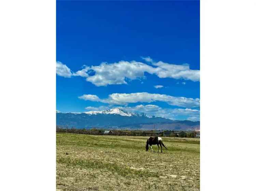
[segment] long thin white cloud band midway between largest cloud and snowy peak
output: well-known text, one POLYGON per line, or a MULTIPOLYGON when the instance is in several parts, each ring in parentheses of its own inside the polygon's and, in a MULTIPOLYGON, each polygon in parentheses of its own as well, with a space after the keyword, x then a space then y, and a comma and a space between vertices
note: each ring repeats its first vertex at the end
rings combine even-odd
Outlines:
POLYGON ((166 102, 169 105, 181 107, 199 107, 200 99, 174 97, 166 94, 158 93, 112 93, 106 99, 100 99, 97 95, 84 94, 80 99, 108 103, 112 105, 127 105, 128 103, 146 102, 151 103, 155 101, 166 102))

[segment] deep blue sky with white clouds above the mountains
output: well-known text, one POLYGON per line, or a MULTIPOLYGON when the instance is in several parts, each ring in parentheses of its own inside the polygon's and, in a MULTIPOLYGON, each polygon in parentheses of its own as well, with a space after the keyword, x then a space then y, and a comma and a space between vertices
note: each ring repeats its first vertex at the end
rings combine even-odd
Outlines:
POLYGON ((56 107, 200 116, 199 1, 57 1, 56 107))

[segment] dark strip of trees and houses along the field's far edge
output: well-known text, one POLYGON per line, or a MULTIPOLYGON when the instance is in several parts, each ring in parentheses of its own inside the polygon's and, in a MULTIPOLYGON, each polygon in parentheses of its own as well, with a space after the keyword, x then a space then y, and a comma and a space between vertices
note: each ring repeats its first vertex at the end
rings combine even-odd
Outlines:
POLYGON ((166 137, 196 137, 195 131, 131 131, 131 130, 105 130, 105 129, 76 129, 76 128, 61 128, 56 126, 57 133, 74 133, 86 135, 116 135, 116 136, 166 136, 166 137))

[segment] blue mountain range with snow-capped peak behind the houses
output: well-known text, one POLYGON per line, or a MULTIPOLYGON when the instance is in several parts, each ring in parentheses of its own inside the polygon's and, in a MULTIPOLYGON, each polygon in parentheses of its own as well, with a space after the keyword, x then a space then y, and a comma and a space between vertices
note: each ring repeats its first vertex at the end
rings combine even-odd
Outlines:
POLYGON ((111 129, 175 129, 197 130, 200 121, 179 121, 155 117, 145 113, 131 113, 118 108, 83 113, 62 113, 56 111, 56 124, 69 128, 111 128, 111 129))

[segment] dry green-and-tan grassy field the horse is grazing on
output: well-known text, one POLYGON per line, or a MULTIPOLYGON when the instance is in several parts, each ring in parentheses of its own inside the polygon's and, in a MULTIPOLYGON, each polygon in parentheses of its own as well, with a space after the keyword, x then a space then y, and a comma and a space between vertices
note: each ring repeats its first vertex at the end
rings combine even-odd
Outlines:
POLYGON ((162 137, 168 150, 156 153, 147 137, 56 136, 58 191, 200 190, 200 139, 162 137))

